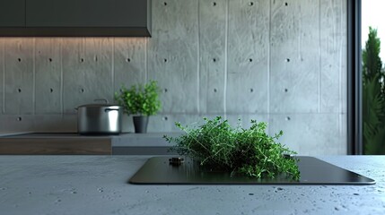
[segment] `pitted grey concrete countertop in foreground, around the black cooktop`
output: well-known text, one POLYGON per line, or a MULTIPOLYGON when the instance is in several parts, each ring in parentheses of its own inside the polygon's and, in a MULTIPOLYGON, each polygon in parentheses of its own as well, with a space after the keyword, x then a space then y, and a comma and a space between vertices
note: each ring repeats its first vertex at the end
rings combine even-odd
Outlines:
POLYGON ((385 156, 319 157, 376 185, 130 185, 148 156, 0 156, 1 214, 385 214, 385 156))

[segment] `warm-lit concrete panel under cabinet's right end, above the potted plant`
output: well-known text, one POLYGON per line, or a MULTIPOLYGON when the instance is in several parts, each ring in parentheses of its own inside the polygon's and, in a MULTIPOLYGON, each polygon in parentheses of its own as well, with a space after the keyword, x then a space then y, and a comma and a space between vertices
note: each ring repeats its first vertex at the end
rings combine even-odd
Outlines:
POLYGON ((146 43, 144 38, 114 39, 114 90, 123 85, 144 83, 147 73, 146 43))

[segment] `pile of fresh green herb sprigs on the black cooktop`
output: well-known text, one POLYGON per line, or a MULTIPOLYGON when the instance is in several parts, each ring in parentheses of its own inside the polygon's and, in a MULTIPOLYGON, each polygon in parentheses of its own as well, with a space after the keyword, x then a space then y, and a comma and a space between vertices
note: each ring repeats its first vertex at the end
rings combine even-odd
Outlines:
POLYGON ((168 142, 176 142, 171 150, 200 160, 202 166, 232 174, 241 173, 257 178, 284 174, 294 180, 299 179, 296 160, 284 156, 295 152, 276 142, 282 131, 269 136, 265 132, 267 124, 255 120, 251 120, 249 129, 241 128, 241 119, 236 128, 232 128, 220 116, 204 120, 204 125, 195 128, 176 123, 186 133, 175 138, 164 136, 168 142))

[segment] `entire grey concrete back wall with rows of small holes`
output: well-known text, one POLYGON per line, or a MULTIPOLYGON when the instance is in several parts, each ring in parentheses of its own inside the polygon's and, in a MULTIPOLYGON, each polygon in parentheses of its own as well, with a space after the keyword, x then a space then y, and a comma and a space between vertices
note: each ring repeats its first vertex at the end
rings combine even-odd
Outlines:
POLYGON ((0 73, 3 132, 75 132, 74 107, 156 80, 149 132, 241 117, 300 154, 346 153, 345 0, 153 0, 152 38, 1 38, 0 73))

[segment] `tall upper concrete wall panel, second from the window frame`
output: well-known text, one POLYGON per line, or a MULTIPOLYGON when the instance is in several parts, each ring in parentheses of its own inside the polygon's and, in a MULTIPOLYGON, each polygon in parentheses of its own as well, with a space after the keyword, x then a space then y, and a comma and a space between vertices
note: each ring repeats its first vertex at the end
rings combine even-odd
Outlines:
POLYGON ((270 113, 318 111, 319 12, 314 3, 272 3, 270 113))

